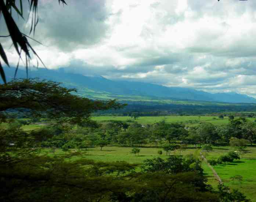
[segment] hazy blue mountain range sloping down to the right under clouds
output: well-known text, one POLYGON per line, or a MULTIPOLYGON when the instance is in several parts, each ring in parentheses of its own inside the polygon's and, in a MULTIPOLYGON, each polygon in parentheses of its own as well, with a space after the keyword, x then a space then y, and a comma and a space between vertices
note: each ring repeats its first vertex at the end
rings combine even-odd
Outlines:
MULTIPOLYGON (((7 81, 11 81, 15 68, 5 68, 7 81)), ((55 82, 62 82, 68 88, 76 88, 80 96, 97 99, 151 100, 180 99, 231 103, 256 103, 256 99, 238 93, 207 93, 205 91, 183 87, 166 87, 151 83, 131 81, 111 81, 102 76, 84 76, 60 70, 39 68, 29 71, 29 78, 39 77, 55 82)), ((17 78, 26 78, 26 71, 18 70, 17 78)))

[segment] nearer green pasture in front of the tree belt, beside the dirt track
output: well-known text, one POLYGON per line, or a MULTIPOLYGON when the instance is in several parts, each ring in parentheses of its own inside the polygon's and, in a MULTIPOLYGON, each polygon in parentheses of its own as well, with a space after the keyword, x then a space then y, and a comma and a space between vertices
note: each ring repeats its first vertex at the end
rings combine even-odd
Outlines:
MULTIPOLYGON (((154 157, 167 158, 164 151, 162 155, 157 153, 159 148, 148 148, 141 147, 139 156, 131 154, 131 147, 103 147, 100 151, 100 147, 90 148, 82 158, 88 158, 95 161, 127 161, 132 164, 143 164, 146 159, 152 159, 154 157)), ((206 153, 207 159, 217 159, 219 156, 226 154, 228 152, 234 151, 235 148, 229 146, 213 147, 213 151, 206 153)), ((233 163, 227 163, 226 165, 214 166, 214 169, 218 175, 223 180, 224 184, 230 188, 237 188, 248 196, 252 202, 256 202, 256 147, 248 147, 249 153, 242 156, 241 160, 235 160, 233 163), (239 182, 232 181, 231 177, 235 175, 241 175, 243 177, 242 187, 240 187, 239 182)), ((47 150, 45 150, 47 151, 47 150)), ((49 155, 52 155, 48 151, 49 155)), ((55 154, 64 154, 60 149, 55 152, 55 154)), ((172 153, 173 154, 173 153, 172 153)), ((177 151, 176 155, 187 155, 187 154, 199 154, 197 149, 186 149, 185 151, 177 151)), ((81 158, 81 157, 75 157, 81 158)), ((208 183, 214 188, 217 187, 217 180, 214 178, 212 171, 208 165, 203 162, 202 167, 204 169, 205 175, 208 177, 208 183)))

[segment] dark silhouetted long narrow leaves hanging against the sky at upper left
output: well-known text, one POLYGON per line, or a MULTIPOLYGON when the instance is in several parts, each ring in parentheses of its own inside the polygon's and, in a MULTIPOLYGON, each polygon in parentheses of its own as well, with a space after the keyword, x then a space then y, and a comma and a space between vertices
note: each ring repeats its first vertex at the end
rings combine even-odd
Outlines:
MULTIPOLYGON (((65 0, 58 0, 59 4, 62 3, 63 5, 66 4, 65 0)), ((29 3, 29 15, 32 16, 31 20, 31 28, 30 28, 30 33, 35 33, 35 29, 37 26, 38 22, 38 15, 37 15, 37 5, 38 5, 38 0, 28 0, 29 3)), ((32 52, 37 60, 42 60, 40 57, 37 55, 37 53, 34 51, 32 46, 28 42, 28 37, 26 34, 23 34, 15 20, 12 18, 12 12, 16 12, 18 16, 20 16, 22 19, 24 19, 24 12, 23 12, 24 6, 22 5, 22 1, 16 1, 16 0, 0 0, 0 14, 3 14, 9 35, 7 36, 1 36, 1 37, 10 37, 12 40, 12 43, 14 45, 14 48, 19 55, 19 58, 21 59, 21 54, 22 51, 25 53, 25 61, 26 61, 26 69, 28 70, 28 62, 31 59, 30 53, 32 52), (17 7, 17 2, 19 3, 19 8, 17 7)), ((7 66, 9 66, 8 59, 6 56, 6 53, 3 49, 3 46, 0 43, 0 56, 3 59, 4 63, 6 63, 7 66)), ((37 61, 38 63, 38 61, 37 61)), ((43 64, 43 62, 42 62, 43 64)), ((43 64, 44 65, 44 64, 43 64)), ((19 63, 17 65, 17 68, 19 66, 19 63)), ((3 79, 4 83, 6 83, 6 76, 4 74, 4 69, 2 64, 0 63, 0 76, 3 79)))

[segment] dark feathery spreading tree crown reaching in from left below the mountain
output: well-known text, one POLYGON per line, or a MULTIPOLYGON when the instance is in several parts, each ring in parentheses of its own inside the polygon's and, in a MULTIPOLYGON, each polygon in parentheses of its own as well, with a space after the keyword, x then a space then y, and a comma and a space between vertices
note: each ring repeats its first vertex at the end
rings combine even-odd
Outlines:
POLYGON ((124 105, 111 101, 92 101, 72 93, 76 89, 61 87, 60 83, 40 79, 15 79, 0 85, 0 116, 6 110, 29 113, 31 117, 44 117, 57 123, 90 125, 92 112, 124 105))

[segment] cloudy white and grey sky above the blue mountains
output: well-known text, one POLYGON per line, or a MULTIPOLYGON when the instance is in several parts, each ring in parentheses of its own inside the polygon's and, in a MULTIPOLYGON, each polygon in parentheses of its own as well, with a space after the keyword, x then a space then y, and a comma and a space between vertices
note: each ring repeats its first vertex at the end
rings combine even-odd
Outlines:
MULTIPOLYGON (((47 68, 256 98, 255 0, 66 2, 39 1, 31 37, 43 45, 30 42, 47 68)), ((28 33, 30 20, 14 18, 28 33)), ((17 53, 3 40, 16 66, 17 53)))

